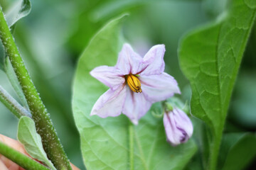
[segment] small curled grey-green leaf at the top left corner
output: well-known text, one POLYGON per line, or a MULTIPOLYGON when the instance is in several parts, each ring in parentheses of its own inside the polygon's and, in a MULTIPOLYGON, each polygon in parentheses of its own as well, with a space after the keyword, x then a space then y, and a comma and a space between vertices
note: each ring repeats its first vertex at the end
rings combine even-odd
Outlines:
POLYGON ((11 8, 9 8, 8 11, 6 11, 6 21, 11 28, 11 26, 14 26, 14 24, 23 18, 24 16, 27 16, 28 13, 31 11, 31 2, 29 0, 18 0, 15 2, 11 8))

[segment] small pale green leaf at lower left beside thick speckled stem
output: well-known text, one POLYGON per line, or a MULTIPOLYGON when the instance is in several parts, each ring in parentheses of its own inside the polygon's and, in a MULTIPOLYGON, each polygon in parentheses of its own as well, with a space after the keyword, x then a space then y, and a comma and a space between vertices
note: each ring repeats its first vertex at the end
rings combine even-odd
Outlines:
POLYGON ((18 141, 21 142, 28 154, 34 159, 46 164, 50 169, 55 170, 52 162, 46 156, 40 135, 36 132, 35 123, 31 118, 22 116, 18 121, 18 141))

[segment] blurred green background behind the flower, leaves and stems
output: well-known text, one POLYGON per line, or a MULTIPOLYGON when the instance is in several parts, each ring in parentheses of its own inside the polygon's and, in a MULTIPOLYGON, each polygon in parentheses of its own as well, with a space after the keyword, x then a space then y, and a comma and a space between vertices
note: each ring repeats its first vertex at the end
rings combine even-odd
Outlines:
MULTIPOLYGON (((14 0, 0 3, 6 10, 14 0)), ((228 3, 225 0, 31 0, 31 4, 31 13, 18 22, 14 37, 65 152, 73 164, 85 169, 71 111, 71 86, 76 62, 90 38, 110 18, 129 13, 123 26, 124 38, 142 56, 152 45, 166 45, 166 72, 176 78, 186 101, 190 98, 189 85, 178 66, 178 40, 188 30, 214 21, 228 3)), ((225 132, 256 130, 255 47, 256 28, 253 28, 225 132)), ((0 84, 17 98, 2 71, 0 84)), ((18 119, 0 104, 0 133, 16 138, 17 124, 18 119)))

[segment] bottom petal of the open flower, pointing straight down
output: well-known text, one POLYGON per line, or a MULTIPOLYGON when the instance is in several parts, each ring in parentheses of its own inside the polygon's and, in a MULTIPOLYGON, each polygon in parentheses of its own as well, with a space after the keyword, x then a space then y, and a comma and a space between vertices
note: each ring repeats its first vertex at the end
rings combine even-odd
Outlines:
POLYGON ((142 118, 149 111, 151 102, 147 101, 142 93, 134 93, 127 86, 127 97, 124 102, 122 113, 137 125, 139 119, 142 118))

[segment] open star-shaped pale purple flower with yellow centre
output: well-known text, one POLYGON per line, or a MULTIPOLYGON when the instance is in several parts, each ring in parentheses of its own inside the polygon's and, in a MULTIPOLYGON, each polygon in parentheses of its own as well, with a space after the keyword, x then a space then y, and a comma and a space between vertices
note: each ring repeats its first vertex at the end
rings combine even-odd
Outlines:
POLYGON ((110 87, 92 108, 101 118, 123 113, 134 123, 149 111, 151 104, 179 94, 174 77, 164 72, 164 45, 155 45, 142 58, 124 44, 114 67, 100 66, 90 72, 110 87))

